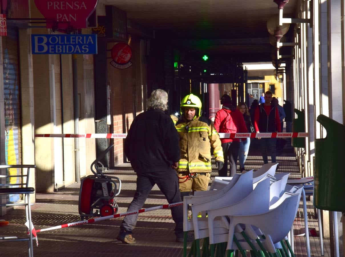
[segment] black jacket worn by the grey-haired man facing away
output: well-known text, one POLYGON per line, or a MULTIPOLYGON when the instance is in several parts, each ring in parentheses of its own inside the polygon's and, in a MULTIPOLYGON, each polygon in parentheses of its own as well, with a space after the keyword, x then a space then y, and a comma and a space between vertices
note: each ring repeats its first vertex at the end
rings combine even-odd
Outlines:
POLYGON ((179 136, 169 115, 160 109, 140 113, 125 140, 125 153, 135 172, 167 169, 180 160, 179 136))

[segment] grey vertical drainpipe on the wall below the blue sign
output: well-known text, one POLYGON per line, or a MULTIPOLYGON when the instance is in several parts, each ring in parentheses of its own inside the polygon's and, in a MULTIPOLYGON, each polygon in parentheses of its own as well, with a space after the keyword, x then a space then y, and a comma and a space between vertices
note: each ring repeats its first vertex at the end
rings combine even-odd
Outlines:
MULTIPOLYGON (((77 55, 72 55, 72 72, 73 72, 73 116, 74 116, 74 133, 79 134, 79 99, 78 99, 78 68, 77 55)), ((80 183, 79 167, 79 139, 74 139, 74 166, 76 182, 80 183)))

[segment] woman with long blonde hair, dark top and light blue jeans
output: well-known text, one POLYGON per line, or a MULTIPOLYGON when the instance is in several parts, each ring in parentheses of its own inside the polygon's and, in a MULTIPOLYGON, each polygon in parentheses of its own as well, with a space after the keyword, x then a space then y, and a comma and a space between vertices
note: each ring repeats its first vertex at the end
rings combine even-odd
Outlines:
MULTIPOLYGON (((255 133, 252 121, 250 120, 250 114, 248 112, 247 105, 243 102, 239 103, 237 105, 237 110, 239 110, 240 113, 242 113, 248 132, 249 133, 255 133)), ((249 137, 247 137, 246 140, 240 139, 239 152, 238 152, 238 161, 239 161, 240 171, 245 170, 244 162, 246 161, 247 156, 248 156, 249 145, 250 145, 250 138, 249 137)))

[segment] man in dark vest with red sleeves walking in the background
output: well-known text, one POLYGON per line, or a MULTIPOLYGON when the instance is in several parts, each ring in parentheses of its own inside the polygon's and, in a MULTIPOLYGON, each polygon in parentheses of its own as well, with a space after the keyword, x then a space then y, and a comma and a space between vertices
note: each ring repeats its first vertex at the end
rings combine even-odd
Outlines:
MULTIPOLYGON (((280 132, 280 120, 278 108, 271 105, 272 92, 266 91, 265 103, 258 106, 255 110, 254 126, 257 133, 280 132)), ((262 158, 264 163, 268 163, 267 152, 270 152, 272 162, 276 162, 277 138, 260 139, 262 158)))

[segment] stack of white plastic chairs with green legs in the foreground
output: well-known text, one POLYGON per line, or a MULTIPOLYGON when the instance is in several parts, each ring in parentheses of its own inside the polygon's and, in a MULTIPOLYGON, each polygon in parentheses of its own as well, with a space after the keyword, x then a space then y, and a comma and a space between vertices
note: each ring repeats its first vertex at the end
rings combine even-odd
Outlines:
MULTIPOLYGON (((185 234, 187 231, 194 231, 195 241, 192 247, 194 256, 201 256, 199 246, 201 238, 204 238, 203 256, 209 254, 214 256, 215 244, 222 244, 218 248, 223 249, 224 253, 227 248, 229 256, 237 249, 251 250, 255 256, 259 254, 259 250, 276 254, 275 248, 285 247, 284 244, 280 244, 280 240, 287 239, 286 235, 296 216, 301 190, 299 187, 286 186, 289 173, 275 174, 277 164, 264 164, 254 173, 249 171, 236 174, 233 178, 216 177, 211 184, 211 191, 197 191, 195 196, 184 198, 184 231, 185 234), (291 203, 295 203, 294 208, 289 207, 289 211, 283 216, 285 221, 280 218, 274 221, 284 224, 284 229, 280 229, 278 233, 275 231, 278 227, 271 226, 269 229, 269 224, 273 223, 270 219, 276 217, 274 215, 279 211, 282 212, 291 203), (194 214, 191 219, 188 219, 189 204, 194 214), (202 213, 202 217, 197 216, 199 212, 202 213), (261 220, 260 222, 267 219, 267 222, 262 224, 249 222, 250 218, 254 217, 261 220), (238 222, 238 220, 246 222, 238 222), (286 231, 287 224, 290 227, 286 231), (204 251, 207 253, 205 254, 204 251)), ((186 256, 186 245, 185 240, 184 256, 186 256)), ((271 256, 267 252, 265 254, 271 256)))

